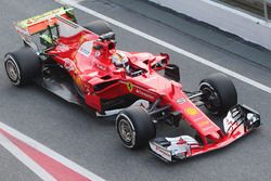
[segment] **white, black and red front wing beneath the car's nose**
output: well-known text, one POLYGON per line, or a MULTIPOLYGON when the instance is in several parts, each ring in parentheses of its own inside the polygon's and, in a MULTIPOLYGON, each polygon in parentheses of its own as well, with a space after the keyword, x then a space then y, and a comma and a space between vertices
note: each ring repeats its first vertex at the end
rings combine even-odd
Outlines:
POLYGON ((232 107, 223 119, 224 134, 217 142, 199 143, 190 135, 156 138, 150 150, 165 161, 176 161, 227 146, 260 126, 260 115, 245 105, 232 107))

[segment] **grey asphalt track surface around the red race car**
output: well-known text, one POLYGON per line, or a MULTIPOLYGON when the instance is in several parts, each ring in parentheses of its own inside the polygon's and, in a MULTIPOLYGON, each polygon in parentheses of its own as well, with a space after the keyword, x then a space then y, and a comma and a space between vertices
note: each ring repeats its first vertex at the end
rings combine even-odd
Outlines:
MULTIPOLYGON (((217 29, 193 22, 144 1, 89 0, 90 8, 156 38, 197 54, 212 63, 271 87, 271 53, 245 43, 217 29)), ((13 21, 26 18, 60 7, 49 0, 0 2, 0 55, 18 49, 20 37, 13 21)), ((80 24, 96 20, 76 11, 80 24)), ((118 48, 127 51, 167 52, 181 68, 183 88, 196 90, 199 80, 211 73, 205 66, 170 49, 145 40, 117 26, 118 48)), ((260 35, 259 35, 260 36, 260 35)), ((15 88, 0 66, 0 121, 35 139, 59 154, 93 171, 105 180, 269 180, 271 177, 271 95, 232 78, 238 102, 259 111, 262 126, 246 138, 220 151, 196 156, 178 164, 165 164, 147 150, 126 150, 116 134, 114 121, 68 104, 31 85, 15 88)), ((159 128, 164 129, 170 127, 159 128)), ((7 150, 0 146, 0 180, 39 180, 7 150)))

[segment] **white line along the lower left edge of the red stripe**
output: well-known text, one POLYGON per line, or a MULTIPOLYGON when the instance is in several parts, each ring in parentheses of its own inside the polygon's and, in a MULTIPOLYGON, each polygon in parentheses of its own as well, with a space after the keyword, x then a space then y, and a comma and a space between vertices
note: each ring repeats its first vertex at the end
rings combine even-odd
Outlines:
POLYGON ((0 133, 0 145, 7 148, 13 156, 27 166, 33 172, 35 172, 40 179, 44 181, 56 181, 49 172, 47 172, 41 166, 29 158, 24 152, 22 152, 15 144, 0 133))

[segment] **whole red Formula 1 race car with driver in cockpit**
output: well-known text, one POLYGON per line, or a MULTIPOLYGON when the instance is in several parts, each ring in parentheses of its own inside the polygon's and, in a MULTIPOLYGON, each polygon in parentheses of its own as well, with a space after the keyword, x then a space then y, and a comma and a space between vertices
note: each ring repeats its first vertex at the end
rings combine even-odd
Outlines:
POLYGON ((198 91, 186 92, 168 54, 117 50, 106 23, 81 27, 70 8, 15 23, 15 28, 25 47, 4 57, 11 82, 35 81, 98 116, 116 115, 117 132, 129 148, 149 144, 156 156, 175 161, 223 147, 260 126, 257 112, 237 104, 227 76, 211 75, 198 91), (199 109, 203 105, 214 115, 227 115, 221 128, 199 109), (178 127, 181 120, 194 135, 156 138, 155 125, 178 127))

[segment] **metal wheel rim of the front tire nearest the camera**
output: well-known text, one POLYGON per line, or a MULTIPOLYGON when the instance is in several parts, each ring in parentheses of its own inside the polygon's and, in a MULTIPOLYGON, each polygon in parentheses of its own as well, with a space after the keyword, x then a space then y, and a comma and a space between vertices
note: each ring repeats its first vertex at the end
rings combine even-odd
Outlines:
POLYGON ((133 138, 131 125, 126 119, 120 119, 118 125, 118 131, 122 140, 125 142, 131 142, 133 138))

